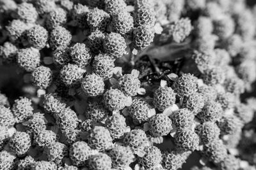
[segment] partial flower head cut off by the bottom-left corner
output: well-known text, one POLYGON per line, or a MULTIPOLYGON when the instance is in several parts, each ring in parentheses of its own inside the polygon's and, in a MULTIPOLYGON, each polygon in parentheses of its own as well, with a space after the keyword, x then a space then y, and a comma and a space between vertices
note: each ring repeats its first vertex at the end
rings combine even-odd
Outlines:
POLYGON ((6 150, 0 152, 0 169, 12 169, 15 166, 16 156, 6 150))

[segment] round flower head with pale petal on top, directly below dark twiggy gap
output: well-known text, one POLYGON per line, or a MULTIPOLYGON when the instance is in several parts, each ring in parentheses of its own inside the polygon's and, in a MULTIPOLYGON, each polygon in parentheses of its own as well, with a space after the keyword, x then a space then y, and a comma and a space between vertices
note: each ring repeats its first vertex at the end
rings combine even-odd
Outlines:
POLYGON ((153 104, 159 111, 164 111, 175 104, 176 94, 171 87, 160 86, 154 92, 153 104))

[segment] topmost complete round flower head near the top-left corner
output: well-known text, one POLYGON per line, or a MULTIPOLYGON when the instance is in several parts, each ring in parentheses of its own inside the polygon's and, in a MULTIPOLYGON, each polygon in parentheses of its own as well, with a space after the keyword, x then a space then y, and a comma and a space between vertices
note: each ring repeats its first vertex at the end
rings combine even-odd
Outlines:
POLYGON ((38 13, 36 8, 31 3, 21 3, 17 6, 16 11, 17 18, 23 20, 24 22, 36 22, 38 18, 38 13))

